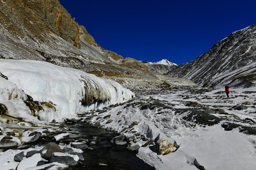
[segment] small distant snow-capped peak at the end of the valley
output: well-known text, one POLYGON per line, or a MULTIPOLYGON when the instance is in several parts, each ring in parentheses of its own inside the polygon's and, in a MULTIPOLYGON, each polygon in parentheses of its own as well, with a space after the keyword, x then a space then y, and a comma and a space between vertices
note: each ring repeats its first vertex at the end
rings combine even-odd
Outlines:
POLYGON ((150 71, 166 74, 167 72, 171 71, 172 69, 176 68, 178 65, 168 61, 167 59, 161 59, 158 62, 146 62, 143 61, 146 65, 146 68, 150 71))

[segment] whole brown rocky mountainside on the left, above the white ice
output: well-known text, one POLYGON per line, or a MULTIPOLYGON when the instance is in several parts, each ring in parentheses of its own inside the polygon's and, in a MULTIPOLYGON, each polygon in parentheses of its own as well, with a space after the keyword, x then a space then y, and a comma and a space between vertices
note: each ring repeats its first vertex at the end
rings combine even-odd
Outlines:
POLYGON ((130 88, 155 88, 165 82, 144 63, 103 49, 58 0, 1 0, 0 58, 47 61, 130 88))

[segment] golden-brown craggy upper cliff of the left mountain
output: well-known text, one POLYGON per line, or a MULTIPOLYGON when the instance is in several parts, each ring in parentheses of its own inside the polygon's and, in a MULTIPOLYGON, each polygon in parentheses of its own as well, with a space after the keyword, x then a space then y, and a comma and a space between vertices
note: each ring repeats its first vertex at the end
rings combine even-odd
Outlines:
POLYGON ((106 58, 122 59, 120 55, 98 45, 58 0, 2 0, 0 9, 1 26, 14 36, 49 43, 48 34, 55 34, 77 49, 82 48, 81 40, 84 40, 106 58))

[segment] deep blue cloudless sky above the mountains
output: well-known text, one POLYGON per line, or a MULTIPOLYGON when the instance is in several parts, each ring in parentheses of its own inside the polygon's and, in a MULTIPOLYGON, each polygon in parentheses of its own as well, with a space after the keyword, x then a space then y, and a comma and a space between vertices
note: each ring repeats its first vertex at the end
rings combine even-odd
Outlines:
POLYGON ((256 0, 59 0, 95 41, 124 58, 196 59, 256 24, 256 0))

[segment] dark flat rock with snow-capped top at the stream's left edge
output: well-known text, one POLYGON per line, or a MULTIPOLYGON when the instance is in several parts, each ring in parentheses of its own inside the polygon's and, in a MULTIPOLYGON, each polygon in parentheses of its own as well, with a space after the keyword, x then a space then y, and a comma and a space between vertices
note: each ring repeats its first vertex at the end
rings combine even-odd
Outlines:
POLYGON ((52 154, 49 162, 50 163, 58 162, 58 163, 63 163, 63 164, 69 165, 69 166, 77 165, 77 161, 75 161, 73 157, 71 157, 65 153, 64 154, 63 153, 52 154))

